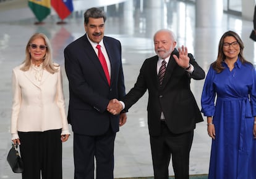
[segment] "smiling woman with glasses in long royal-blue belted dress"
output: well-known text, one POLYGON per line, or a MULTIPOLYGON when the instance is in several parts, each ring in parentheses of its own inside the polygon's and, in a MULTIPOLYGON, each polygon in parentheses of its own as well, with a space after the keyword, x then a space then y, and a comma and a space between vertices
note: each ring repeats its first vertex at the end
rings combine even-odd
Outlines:
POLYGON ((256 178, 256 73, 243 50, 237 33, 224 33, 203 86, 211 179, 256 178))

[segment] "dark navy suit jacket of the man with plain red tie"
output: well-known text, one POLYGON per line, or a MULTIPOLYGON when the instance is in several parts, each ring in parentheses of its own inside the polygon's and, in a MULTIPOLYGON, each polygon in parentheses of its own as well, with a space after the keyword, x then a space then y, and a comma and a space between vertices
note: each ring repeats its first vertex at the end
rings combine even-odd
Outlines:
POLYGON ((125 95, 121 43, 106 36, 103 43, 111 63, 110 86, 86 34, 64 50, 69 79, 67 118, 72 130, 82 135, 101 135, 109 129, 109 125, 113 132, 119 130, 119 116, 108 113, 106 107, 109 100, 125 95))

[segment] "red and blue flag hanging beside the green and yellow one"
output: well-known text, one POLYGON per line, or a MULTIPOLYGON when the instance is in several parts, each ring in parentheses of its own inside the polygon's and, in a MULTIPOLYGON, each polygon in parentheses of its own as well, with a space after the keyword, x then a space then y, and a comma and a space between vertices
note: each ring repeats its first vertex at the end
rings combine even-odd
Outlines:
POLYGON ((54 0, 51 1, 51 6, 54 8, 56 13, 59 15, 61 20, 64 20, 71 12, 73 12, 72 0, 54 0))

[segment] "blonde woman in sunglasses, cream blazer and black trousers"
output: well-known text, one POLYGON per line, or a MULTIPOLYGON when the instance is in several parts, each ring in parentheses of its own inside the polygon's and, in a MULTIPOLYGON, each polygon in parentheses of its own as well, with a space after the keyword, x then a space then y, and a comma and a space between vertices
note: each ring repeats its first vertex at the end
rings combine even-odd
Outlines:
POLYGON ((11 135, 25 165, 23 179, 61 179, 62 142, 70 132, 61 68, 52 62, 49 39, 35 33, 25 60, 12 71, 11 135))

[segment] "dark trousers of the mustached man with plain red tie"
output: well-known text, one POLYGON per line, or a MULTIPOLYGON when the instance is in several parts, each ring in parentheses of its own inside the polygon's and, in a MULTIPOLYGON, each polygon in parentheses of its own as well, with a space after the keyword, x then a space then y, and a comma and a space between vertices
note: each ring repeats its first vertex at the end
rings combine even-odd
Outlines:
POLYGON ((99 136, 74 133, 74 178, 93 179, 96 161, 96 179, 113 179, 115 138, 110 127, 99 136))

